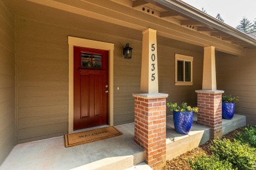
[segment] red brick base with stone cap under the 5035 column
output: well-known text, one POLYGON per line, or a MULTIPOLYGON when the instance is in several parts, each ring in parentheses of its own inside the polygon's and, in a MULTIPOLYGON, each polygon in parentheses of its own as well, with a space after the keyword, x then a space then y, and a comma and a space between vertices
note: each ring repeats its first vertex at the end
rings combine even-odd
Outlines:
POLYGON ((163 93, 133 94, 135 97, 135 142, 146 152, 153 169, 165 165, 166 97, 163 93))

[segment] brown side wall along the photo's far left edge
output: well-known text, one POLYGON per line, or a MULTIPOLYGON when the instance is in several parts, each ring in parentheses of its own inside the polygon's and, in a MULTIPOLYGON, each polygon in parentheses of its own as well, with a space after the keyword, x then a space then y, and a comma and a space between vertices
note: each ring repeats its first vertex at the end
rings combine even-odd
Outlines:
POLYGON ((0 1, 0 165, 15 144, 15 22, 0 1))

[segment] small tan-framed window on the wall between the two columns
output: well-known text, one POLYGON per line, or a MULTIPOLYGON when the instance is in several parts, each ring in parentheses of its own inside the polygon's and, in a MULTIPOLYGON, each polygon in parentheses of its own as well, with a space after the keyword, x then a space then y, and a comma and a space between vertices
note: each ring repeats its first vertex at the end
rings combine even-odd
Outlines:
POLYGON ((193 57, 175 54, 175 85, 193 84, 193 57))

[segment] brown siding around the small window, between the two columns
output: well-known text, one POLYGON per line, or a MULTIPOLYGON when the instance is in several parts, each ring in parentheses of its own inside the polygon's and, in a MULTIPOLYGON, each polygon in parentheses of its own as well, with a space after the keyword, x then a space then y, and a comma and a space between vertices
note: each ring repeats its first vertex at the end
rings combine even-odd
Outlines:
MULTIPOLYGON (((177 42, 179 44, 179 42, 177 42)), ((185 46, 185 45, 184 45, 185 46)), ((168 46, 158 46, 158 75, 159 75, 159 91, 168 93, 167 101, 182 103, 196 106, 197 97, 195 90, 202 89, 203 75, 203 54, 196 51, 197 48, 184 50, 182 48, 172 48, 168 46), (194 58, 194 73, 192 86, 176 86, 175 85, 175 54, 192 56, 194 58)), ((171 111, 167 108, 167 114, 171 111)))

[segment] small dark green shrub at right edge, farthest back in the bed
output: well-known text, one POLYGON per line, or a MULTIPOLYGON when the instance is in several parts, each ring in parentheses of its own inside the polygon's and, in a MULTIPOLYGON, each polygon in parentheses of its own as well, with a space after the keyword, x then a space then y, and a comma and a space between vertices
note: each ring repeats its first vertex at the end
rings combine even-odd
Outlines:
POLYGON ((256 148, 256 126, 245 127, 242 133, 236 135, 236 139, 241 143, 247 143, 249 146, 256 148))

